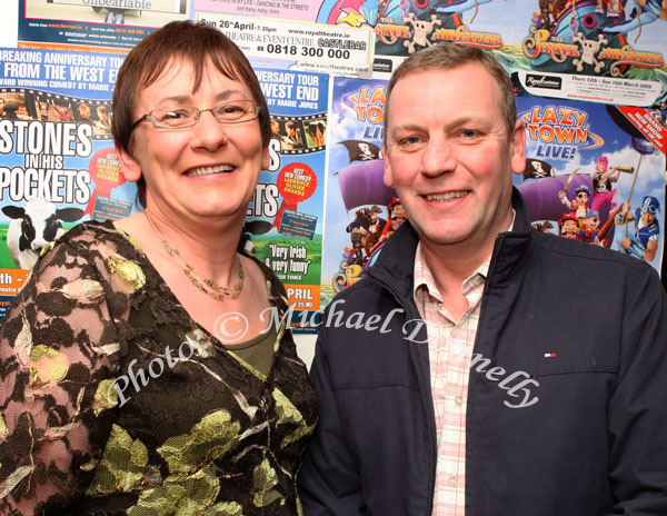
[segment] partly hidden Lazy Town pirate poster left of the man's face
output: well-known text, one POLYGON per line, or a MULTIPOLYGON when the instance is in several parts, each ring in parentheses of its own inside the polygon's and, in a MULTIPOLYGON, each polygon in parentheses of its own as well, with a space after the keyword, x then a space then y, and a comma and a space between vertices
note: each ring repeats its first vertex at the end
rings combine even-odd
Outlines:
POLYGON ((327 168, 322 306, 364 276, 405 221, 382 180, 384 80, 334 79, 327 168))

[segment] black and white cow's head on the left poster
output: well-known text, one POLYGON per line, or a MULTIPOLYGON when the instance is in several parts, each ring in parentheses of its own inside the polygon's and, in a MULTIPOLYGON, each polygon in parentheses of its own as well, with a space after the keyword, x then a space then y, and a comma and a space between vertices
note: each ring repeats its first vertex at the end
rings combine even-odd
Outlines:
POLYGON ((37 198, 24 206, 4 206, 2 212, 11 220, 7 230, 7 247, 17 267, 32 269, 39 251, 64 229, 60 221, 74 222, 83 217, 79 208, 56 208, 53 202, 37 198))

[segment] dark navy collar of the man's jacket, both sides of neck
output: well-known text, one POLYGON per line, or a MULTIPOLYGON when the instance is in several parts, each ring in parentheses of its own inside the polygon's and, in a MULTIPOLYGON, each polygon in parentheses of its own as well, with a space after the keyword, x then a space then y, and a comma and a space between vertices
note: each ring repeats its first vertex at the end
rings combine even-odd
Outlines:
MULTIPOLYGON (((511 205, 516 211, 514 229, 496 237, 487 286, 501 286, 521 270, 531 241, 528 211, 519 190, 512 188, 511 205)), ((376 264, 366 274, 402 299, 412 298, 415 252, 419 236, 405 222, 387 240, 376 264)))

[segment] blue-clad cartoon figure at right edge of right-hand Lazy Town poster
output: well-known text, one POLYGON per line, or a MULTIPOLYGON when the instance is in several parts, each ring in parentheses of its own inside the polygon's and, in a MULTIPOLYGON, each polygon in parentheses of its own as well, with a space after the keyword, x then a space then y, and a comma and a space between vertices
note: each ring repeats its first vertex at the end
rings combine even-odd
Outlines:
POLYGON ((621 217, 627 218, 627 221, 635 221, 635 234, 625 237, 620 241, 620 247, 628 255, 653 261, 660 241, 660 226, 658 225, 660 202, 653 196, 646 196, 641 201, 641 207, 635 210, 635 215, 629 214, 629 211, 630 207, 626 204, 620 214, 621 217))

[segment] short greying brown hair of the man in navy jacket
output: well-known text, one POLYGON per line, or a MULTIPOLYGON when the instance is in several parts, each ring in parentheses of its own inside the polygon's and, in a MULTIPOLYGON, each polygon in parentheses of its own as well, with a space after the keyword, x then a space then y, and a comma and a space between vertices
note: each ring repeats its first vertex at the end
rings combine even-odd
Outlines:
MULTIPOLYGON (((476 47, 457 43, 438 43, 420 50, 406 59, 391 75, 385 102, 385 141, 387 139, 387 123, 389 120, 389 99, 396 83, 412 73, 429 70, 450 70, 468 63, 481 64, 500 88, 500 109, 505 117, 507 138, 511 138, 517 121, 517 105, 514 96, 514 86, 502 64, 492 57, 476 47)), ((447 99, 442 99, 447 102, 447 99)))

